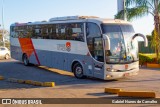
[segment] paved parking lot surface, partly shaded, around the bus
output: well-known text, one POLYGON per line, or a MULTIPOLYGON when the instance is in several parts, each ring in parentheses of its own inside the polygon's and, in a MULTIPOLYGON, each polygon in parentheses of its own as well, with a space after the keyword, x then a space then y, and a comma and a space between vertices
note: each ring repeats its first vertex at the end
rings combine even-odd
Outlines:
POLYGON ((154 91, 160 97, 160 69, 141 68, 137 76, 105 81, 95 78, 76 79, 72 73, 47 67, 24 66, 9 59, 0 60, 0 98, 117 98, 104 88, 127 91, 154 91), (55 87, 40 87, 8 82, 8 78, 55 82, 55 87))

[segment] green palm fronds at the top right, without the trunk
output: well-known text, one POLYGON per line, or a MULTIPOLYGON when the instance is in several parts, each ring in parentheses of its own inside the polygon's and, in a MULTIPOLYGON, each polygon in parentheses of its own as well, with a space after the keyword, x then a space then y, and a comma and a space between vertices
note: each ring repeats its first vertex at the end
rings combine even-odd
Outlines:
MULTIPOLYGON (((159 0, 158 0, 159 1, 159 0)), ((159 3, 159 2, 158 2, 159 3)), ((133 20, 135 18, 141 18, 145 15, 151 14, 155 15, 155 9, 160 11, 160 3, 158 7, 155 8, 157 5, 156 0, 126 0, 126 13, 127 19, 133 20)), ((124 16, 124 10, 120 11, 115 15, 115 18, 122 19, 124 16)))

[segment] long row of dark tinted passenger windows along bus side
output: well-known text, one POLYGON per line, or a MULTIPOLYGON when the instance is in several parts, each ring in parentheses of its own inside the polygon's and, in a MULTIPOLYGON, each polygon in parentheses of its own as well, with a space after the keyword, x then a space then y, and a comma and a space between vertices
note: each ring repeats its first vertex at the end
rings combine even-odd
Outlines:
POLYGON ((11 33, 12 37, 84 42, 83 23, 16 26, 14 32, 11 33))

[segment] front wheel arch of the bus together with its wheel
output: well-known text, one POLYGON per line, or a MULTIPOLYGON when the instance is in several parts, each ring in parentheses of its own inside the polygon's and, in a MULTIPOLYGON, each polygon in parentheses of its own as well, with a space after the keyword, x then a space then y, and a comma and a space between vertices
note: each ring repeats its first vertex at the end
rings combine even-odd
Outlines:
POLYGON ((78 79, 85 78, 84 72, 83 72, 83 66, 79 61, 74 61, 72 63, 72 72, 74 73, 74 76, 78 79))

